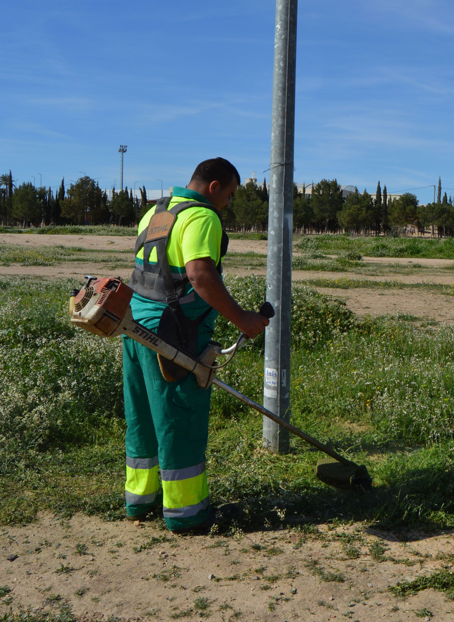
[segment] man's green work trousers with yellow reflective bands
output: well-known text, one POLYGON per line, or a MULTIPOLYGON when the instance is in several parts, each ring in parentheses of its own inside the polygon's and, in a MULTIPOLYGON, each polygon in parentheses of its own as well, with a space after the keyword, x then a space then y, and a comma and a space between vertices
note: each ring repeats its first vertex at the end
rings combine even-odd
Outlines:
MULTIPOLYGON (((210 335, 199 335, 198 352, 210 335)), ((123 337, 126 415, 126 511, 146 513, 157 503, 160 480, 168 529, 194 527, 210 515, 205 473, 211 388, 194 374, 173 383, 160 372, 157 355, 123 337)))

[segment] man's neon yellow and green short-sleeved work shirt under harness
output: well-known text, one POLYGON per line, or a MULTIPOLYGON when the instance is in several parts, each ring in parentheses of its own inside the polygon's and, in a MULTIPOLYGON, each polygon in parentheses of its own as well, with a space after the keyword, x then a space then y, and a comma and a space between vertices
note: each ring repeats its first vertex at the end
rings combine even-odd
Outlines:
MULTIPOLYGON (((197 203, 209 203, 203 195, 195 190, 174 186, 174 193, 170 199, 168 209, 183 201, 192 200, 197 203)), ((211 204, 210 204, 211 205, 211 204)), ((140 234, 150 222, 154 214, 155 206, 147 211, 146 215, 139 223, 140 234)), ((170 272, 174 276, 181 278, 186 276, 185 265, 193 259, 210 257, 217 265, 220 261, 222 226, 216 213, 205 207, 194 207, 183 210, 177 216, 172 231, 170 231, 167 243, 167 259, 169 261, 170 272)), ((156 249, 152 249, 149 262, 157 263, 156 249)), ((144 249, 142 248, 136 256, 136 267, 143 269, 144 249)), ((183 312, 191 320, 195 320, 199 315, 208 309, 206 304, 192 285, 188 283, 185 292, 180 299, 183 312)), ((167 307, 164 302, 155 302, 142 297, 139 294, 132 295, 131 310, 132 317, 136 322, 141 322, 147 328, 155 329, 159 324, 159 319, 163 310, 167 307)), ((203 320, 203 325, 213 330, 214 322, 218 312, 214 309, 203 320)))

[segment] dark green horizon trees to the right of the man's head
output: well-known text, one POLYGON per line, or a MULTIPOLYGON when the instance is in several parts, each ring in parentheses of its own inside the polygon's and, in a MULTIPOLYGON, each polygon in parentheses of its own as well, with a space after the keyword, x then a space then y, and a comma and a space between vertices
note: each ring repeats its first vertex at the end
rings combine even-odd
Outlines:
MULTIPOLYGON (((236 231, 266 231, 268 225, 266 181, 257 185, 250 181, 239 186, 230 207, 223 210, 226 226, 236 231)), ((442 197, 438 179, 437 201, 419 205, 416 195, 405 192, 388 197, 377 184, 375 197, 365 189, 344 198, 336 179, 322 179, 312 185, 312 192, 299 192, 294 184, 293 226, 296 233, 404 234, 407 230, 423 233, 425 228, 437 229, 438 236, 454 236, 453 198, 442 197)))

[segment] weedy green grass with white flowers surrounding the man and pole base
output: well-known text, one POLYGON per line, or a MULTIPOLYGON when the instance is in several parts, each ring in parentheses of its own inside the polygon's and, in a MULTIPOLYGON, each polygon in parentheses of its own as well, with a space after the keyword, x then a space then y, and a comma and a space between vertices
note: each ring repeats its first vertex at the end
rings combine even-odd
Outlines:
MULTIPOLYGON (((264 279, 227 275, 226 284, 246 308, 264 299, 264 279)), ((0 278, 2 524, 33 521, 40 510, 124 516, 121 340, 73 327, 75 285, 0 278)), ((261 415, 215 388, 206 456, 213 502, 239 499, 243 530, 283 522, 310 533, 308 508, 314 522, 453 527, 454 329, 423 333, 398 316, 361 321, 299 285, 292 317, 292 423, 366 464, 373 490, 359 499, 323 485, 314 475, 322 454, 297 437, 287 455, 263 450, 261 415)), ((220 319, 216 337, 231 343, 236 329, 220 319)), ((219 376, 262 402, 262 374, 261 338, 219 376)), ((159 513, 152 521, 163 525, 159 513)), ((345 552, 354 559, 352 544, 345 552)))

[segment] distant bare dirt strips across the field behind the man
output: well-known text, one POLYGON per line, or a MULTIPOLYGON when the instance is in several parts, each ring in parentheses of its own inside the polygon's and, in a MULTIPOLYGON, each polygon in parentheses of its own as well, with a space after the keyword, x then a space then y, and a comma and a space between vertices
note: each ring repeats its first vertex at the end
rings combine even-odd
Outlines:
MULTIPOLYGON (((61 244, 63 246, 81 246, 87 249, 113 249, 123 251, 125 257, 131 253, 131 262, 134 257, 134 244, 136 238, 120 236, 77 236, 77 235, 40 235, 40 234, 0 234, 0 243, 27 244, 30 246, 40 246, 61 244)), ((265 253, 267 252, 267 242, 262 240, 237 240, 233 239, 229 243, 229 251, 234 253, 265 253)), ((380 276, 368 276, 369 281, 397 281, 402 284, 443 284, 451 285, 454 282, 454 272, 451 274, 445 269, 454 266, 452 259, 407 259, 407 258, 364 258, 364 262, 380 264, 383 272, 380 276), (392 271, 393 266, 417 266, 424 267, 421 274, 396 274, 392 271), (386 272, 386 266, 390 271, 386 272)), ((130 268, 114 269, 115 275, 129 279, 130 268)), ((234 274, 266 274, 264 269, 231 269, 234 274)), ((62 262, 58 266, 0 266, 0 274, 22 275, 30 274, 35 276, 50 277, 73 277, 75 286, 84 281, 85 274, 95 274, 98 277, 111 276, 112 268, 103 264, 90 264, 87 262, 62 262)), ((295 270, 292 273, 294 281, 305 281, 315 277, 326 277, 340 279, 342 277, 355 277, 357 274, 351 272, 317 272, 295 270)), ((360 316, 382 315, 382 313, 400 311, 409 313, 425 320, 436 320, 437 322, 454 322, 454 304, 450 296, 443 294, 428 293, 427 290, 397 289, 396 287, 387 289, 375 289, 361 287, 357 289, 333 289, 317 288, 320 292, 331 294, 340 300, 344 300, 349 309, 360 316)))

